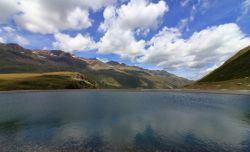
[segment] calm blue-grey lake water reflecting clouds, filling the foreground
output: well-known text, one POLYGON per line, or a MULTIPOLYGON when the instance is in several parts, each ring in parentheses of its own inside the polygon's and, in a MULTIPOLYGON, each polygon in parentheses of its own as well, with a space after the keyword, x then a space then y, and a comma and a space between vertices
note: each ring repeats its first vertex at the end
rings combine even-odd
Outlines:
POLYGON ((247 152, 250 96, 67 91, 0 94, 1 152, 247 152))

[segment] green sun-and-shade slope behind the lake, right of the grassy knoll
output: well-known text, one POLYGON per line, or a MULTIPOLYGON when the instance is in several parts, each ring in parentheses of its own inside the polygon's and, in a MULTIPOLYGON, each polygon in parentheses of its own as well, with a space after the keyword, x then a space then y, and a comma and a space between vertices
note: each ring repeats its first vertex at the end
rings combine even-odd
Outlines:
POLYGON ((176 76, 158 76, 143 70, 105 69, 83 72, 88 78, 97 82, 98 88, 112 89, 171 89, 190 84, 176 76))

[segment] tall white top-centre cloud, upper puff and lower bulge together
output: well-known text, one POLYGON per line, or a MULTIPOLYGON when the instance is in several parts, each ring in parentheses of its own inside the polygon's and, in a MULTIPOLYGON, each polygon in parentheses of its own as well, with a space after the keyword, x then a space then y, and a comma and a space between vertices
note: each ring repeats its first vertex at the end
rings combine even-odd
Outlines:
POLYGON ((99 27, 104 32, 97 43, 99 52, 114 53, 130 59, 142 54, 145 41, 137 40, 135 33, 157 27, 166 11, 168 6, 164 1, 150 3, 146 0, 131 0, 119 8, 107 7, 103 13, 105 20, 99 27))

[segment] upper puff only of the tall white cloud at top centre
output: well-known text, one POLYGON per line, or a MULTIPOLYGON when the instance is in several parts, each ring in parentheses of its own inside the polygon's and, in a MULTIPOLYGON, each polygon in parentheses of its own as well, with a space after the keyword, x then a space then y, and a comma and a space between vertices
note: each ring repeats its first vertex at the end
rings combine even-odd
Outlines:
POLYGON ((120 8, 107 7, 103 14, 105 21, 101 27, 107 30, 116 24, 122 29, 148 29, 156 27, 159 19, 167 11, 168 6, 164 1, 149 3, 146 0, 131 0, 120 8))

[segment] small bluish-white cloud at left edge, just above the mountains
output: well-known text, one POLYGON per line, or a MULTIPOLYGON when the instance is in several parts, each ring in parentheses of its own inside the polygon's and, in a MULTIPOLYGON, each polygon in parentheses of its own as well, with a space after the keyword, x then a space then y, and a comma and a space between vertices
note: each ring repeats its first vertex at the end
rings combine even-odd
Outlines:
POLYGON ((2 38, 4 41, 3 42, 13 42, 13 43, 18 43, 20 45, 27 45, 29 44, 29 40, 26 39, 25 37, 19 35, 16 31, 16 29, 9 27, 9 26, 5 26, 2 27, 2 32, 4 33, 2 38))

